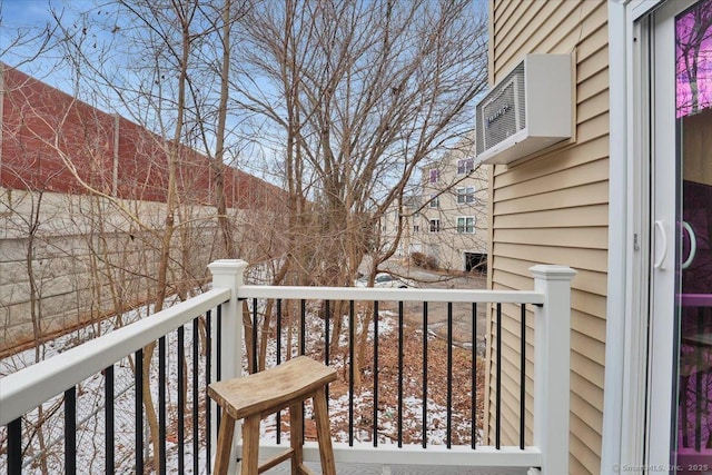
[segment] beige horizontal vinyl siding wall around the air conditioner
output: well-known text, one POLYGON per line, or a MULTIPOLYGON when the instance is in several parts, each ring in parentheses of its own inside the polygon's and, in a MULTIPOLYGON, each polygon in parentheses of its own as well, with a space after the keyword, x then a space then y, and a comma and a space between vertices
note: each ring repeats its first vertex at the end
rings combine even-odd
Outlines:
MULTIPOLYGON (((491 174, 491 287, 531 289, 528 268, 568 265, 572 286, 570 473, 600 473, 609 243, 609 49, 604 1, 491 3, 490 72, 504 77, 527 52, 574 55, 575 139, 491 174)), ((518 444, 520 310, 503 306, 502 443, 518 444)), ((488 340, 495 342, 494 311, 488 340)), ((527 309, 526 443, 532 443, 534 328, 527 309)), ((487 443, 494 443, 496 348, 487 348, 487 443)), ((557 390, 557 388, 552 388, 557 390)))

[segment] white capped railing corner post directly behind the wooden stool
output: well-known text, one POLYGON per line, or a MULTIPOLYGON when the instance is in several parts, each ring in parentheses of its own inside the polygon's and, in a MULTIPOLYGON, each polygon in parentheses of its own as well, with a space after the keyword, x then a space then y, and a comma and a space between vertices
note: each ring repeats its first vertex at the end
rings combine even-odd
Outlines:
MULTIPOLYGON (((230 379, 241 375, 243 362, 243 317, 241 305, 237 299, 237 289, 244 285, 244 274, 247 263, 240 259, 220 259, 208 265, 208 269, 212 274, 212 288, 229 288, 230 299, 222 304, 221 316, 221 334, 222 345, 220 352, 220 379, 230 379)), ((217 319, 214 319, 211 328, 212 340, 217 336, 217 319)), ((212 363, 211 380, 215 380, 216 365, 212 363)), ((210 437, 217 441, 217 414, 214 410, 210 415, 210 437)), ((240 441, 240 424, 235 425, 235 437, 233 438, 233 448, 230 454, 230 466, 228 473, 237 473, 236 446, 240 441)), ((210 459, 215 461, 215 449, 217 444, 212 444, 210 448, 210 459)))

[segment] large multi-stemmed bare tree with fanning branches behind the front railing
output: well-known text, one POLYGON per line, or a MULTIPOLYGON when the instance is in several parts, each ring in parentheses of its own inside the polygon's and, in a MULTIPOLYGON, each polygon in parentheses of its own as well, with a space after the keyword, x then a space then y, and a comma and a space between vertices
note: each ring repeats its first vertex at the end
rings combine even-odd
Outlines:
POLYGON ((380 217, 472 128, 485 19, 472 2, 356 0, 264 2, 244 19, 236 99, 273 133, 288 265, 301 284, 344 285, 370 255, 373 279, 397 246, 374 246, 380 217))

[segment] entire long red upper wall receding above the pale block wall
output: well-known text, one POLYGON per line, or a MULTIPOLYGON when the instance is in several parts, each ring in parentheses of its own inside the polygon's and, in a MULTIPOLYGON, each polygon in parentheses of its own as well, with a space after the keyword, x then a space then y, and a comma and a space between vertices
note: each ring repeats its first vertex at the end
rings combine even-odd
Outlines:
MULTIPOLYGON (((166 201, 170 144, 146 128, 102 112, 0 63, 2 150, 0 186, 68 194, 87 187, 117 197, 166 201), (115 130, 118 167, 115 184, 115 130), (72 172, 75 170, 75 172, 72 172)), ((215 202, 208 158, 178 147, 178 194, 184 202, 215 202)), ((228 207, 277 209, 284 190, 231 167, 225 168, 228 207)))

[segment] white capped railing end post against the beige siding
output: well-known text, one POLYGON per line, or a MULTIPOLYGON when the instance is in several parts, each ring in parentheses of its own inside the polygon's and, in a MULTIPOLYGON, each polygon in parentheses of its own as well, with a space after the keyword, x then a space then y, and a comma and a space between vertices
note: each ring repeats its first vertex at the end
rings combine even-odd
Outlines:
POLYGON ((535 307, 534 446, 542 451, 542 473, 568 473, 571 372, 571 279, 566 266, 530 268, 534 290, 544 293, 535 307))

